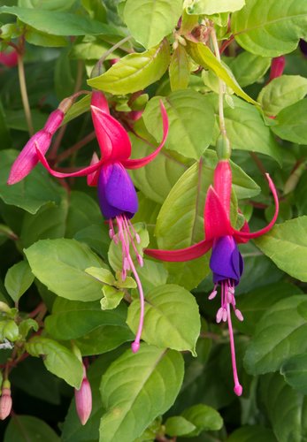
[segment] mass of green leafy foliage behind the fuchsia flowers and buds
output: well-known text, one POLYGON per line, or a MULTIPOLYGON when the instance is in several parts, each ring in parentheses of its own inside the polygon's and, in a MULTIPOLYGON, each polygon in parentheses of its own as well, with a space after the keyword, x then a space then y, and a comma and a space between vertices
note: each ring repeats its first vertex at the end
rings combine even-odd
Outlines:
MULTIPOLYGON (((297 44, 307 39, 305 1, 19 0, 1 4, 0 14, 2 50, 25 40, 35 131, 65 96, 99 88, 140 157, 151 149, 142 139, 161 139, 157 96, 163 97, 170 119, 165 149, 131 173, 143 247, 150 241, 152 248, 183 248, 203 239, 203 204, 217 164, 217 77, 226 82, 226 131, 234 149, 233 224, 242 223, 238 200, 252 230, 272 217, 264 171, 280 194, 279 224, 241 247, 245 271, 236 294, 245 320, 234 327, 244 392, 238 399, 227 331, 215 324, 217 304, 207 301, 207 256, 172 264, 145 259, 140 275, 153 312, 142 349, 131 354, 137 293, 128 289, 132 303, 116 309, 99 302, 108 300, 106 286, 113 293, 123 287, 110 279, 119 255, 95 189, 85 179, 50 179, 41 166, 6 185, 28 132, 18 69, 1 67, 0 296, 10 309, 2 306, 0 335, 18 349, 1 350, 1 367, 19 358, 10 373, 13 414, 1 424, 4 442, 37 435, 52 442, 304 440, 307 64, 297 44), (209 50, 208 24, 221 45, 231 39, 222 63, 209 50), (188 39, 195 28, 207 46, 188 39), (111 50, 87 83, 97 60, 127 35, 133 38, 111 50), (282 54, 284 74, 268 83, 272 57, 282 54), (113 58, 121 60, 111 65, 113 58), (142 95, 132 95, 137 91, 142 95), (131 110, 143 111, 142 118, 134 123, 131 110), (106 270, 101 280, 91 267, 106 270), (84 427, 72 400, 81 382, 72 345, 89 364, 94 401, 84 427)), ((59 149, 50 149, 55 164, 84 137, 86 146, 77 145, 64 166, 88 164, 97 149, 88 108, 84 98, 67 114, 59 149)))

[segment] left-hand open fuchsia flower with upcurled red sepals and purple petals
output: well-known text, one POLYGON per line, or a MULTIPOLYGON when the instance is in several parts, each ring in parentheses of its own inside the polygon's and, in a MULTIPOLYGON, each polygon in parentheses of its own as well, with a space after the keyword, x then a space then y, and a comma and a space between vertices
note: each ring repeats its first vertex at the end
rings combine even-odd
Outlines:
POLYGON ((138 210, 138 201, 134 184, 127 173, 127 169, 138 169, 149 164, 163 148, 168 133, 168 118, 162 102, 160 106, 163 122, 163 139, 152 154, 141 159, 130 158, 131 142, 128 134, 124 127, 115 118, 111 117, 108 102, 104 94, 98 91, 92 94, 91 112, 96 138, 100 147, 101 159, 94 154, 88 167, 80 171, 63 173, 52 170, 42 150, 38 145, 36 146, 37 156, 54 177, 66 178, 87 175, 88 185, 97 186, 100 209, 104 217, 109 220, 110 236, 117 244, 121 245, 121 276, 125 279, 127 271, 132 271, 140 293, 141 313, 138 331, 132 344, 134 353, 140 347, 144 316, 144 296, 142 284, 130 253, 132 248, 138 263, 142 266, 142 256, 136 248, 136 244, 140 242, 140 237, 135 232, 134 226, 130 221, 138 210), (117 225, 117 233, 115 233, 113 222, 117 225))

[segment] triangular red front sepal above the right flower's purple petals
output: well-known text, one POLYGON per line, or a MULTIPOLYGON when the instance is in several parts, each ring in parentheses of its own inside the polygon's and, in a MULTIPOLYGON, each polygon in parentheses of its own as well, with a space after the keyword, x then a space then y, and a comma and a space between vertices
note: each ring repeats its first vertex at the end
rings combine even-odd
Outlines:
POLYGON ((206 240, 214 240, 221 236, 232 235, 226 211, 213 187, 209 187, 204 205, 204 234, 206 240))

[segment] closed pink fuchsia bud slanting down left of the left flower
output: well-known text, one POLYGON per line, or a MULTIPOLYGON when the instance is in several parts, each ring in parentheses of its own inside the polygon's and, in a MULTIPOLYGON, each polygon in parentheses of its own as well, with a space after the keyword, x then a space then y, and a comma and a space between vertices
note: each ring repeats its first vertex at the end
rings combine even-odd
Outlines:
POLYGON ((39 146, 43 155, 47 153, 52 137, 57 132, 58 127, 61 126, 65 112, 72 103, 73 99, 71 98, 65 98, 65 100, 59 103, 58 109, 50 113, 45 126, 27 141, 26 146, 20 151, 19 156, 12 164, 7 184, 12 185, 18 183, 21 179, 26 178, 32 169, 35 168, 35 165, 39 161, 36 154, 36 146, 39 146))

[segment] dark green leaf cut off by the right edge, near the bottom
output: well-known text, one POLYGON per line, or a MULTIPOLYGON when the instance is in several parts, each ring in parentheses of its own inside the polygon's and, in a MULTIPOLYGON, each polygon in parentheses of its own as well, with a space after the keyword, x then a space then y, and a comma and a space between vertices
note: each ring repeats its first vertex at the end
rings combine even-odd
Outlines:
POLYGON ((307 394, 307 353, 297 354, 281 365, 280 374, 298 392, 307 394))

